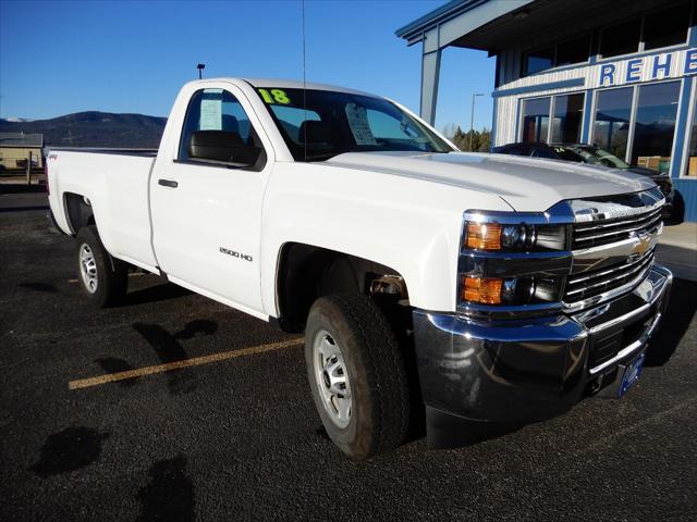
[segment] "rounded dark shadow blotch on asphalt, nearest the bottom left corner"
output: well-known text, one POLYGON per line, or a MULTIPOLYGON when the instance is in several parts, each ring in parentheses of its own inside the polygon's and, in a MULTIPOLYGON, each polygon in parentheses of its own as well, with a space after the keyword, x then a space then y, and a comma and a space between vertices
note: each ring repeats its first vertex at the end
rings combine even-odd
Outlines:
POLYGON ((108 437, 108 433, 101 434, 90 427, 66 427, 46 439, 39 461, 29 469, 47 477, 85 468, 99 459, 101 444, 108 437))

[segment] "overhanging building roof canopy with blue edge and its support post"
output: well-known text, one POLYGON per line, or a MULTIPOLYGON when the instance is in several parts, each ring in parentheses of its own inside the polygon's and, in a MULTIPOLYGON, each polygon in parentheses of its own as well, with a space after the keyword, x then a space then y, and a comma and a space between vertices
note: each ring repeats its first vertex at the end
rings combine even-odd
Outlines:
POLYGON ((409 46, 423 42, 420 114, 432 124, 443 48, 479 49, 494 55, 502 49, 575 36, 678 1, 613 0, 608 9, 607 0, 454 0, 395 34, 409 46))

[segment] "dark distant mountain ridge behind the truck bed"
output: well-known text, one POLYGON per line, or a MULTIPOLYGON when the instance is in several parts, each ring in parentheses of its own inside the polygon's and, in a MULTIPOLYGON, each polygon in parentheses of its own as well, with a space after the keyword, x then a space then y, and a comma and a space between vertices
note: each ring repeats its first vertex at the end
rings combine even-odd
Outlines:
POLYGON ((44 144, 53 147, 154 149, 160 145, 166 123, 167 117, 89 111, 51 120, 0 120, 0 133, 40 133, 44 144))

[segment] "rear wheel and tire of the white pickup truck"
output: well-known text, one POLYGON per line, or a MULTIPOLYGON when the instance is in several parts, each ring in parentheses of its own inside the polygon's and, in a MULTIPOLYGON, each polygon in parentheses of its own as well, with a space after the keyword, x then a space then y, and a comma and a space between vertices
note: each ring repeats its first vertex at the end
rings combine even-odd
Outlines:
POLYGON ((123 299, 129 286, 127 265, 107 252, 96 226, 85 226, 77 233, 76 260, 77 281, 95 307, 110 307, 123 299))

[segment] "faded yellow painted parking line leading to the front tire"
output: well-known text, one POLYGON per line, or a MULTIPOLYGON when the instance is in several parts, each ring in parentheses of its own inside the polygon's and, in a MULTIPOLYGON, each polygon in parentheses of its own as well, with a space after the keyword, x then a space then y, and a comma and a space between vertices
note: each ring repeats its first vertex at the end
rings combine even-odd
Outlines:
POLYGON ((222 351, 220 353, 213 353, 210 356, 183 359, 181 361, 168 362, 167 364, 159 364, 157 366, 145 366, 135 370, 129 370, 126 372, 108 373, 106 375, 98 375, 96 377, 78 378, 76 381, 70 381, 68 383, 68 388, 88 388, 90 386, 97 386, 99 384, 114 383, 117 381, 142 377, 143 375, 151 375, 154 373, 171 372, 172 370, 180 370, 182 368, 197 366, 199 364, 225 361, 228 359, 235 359, 243 356, 264 353, 266 351, 280 350, 283 348, 292 348, 295 346, 301 346, 302 344, 303 338, 295 338, 290 340, 282 340, 280 343, 269 343, 266 345, 253 346, 250 348, 243 348, 241 350, 222 351))

